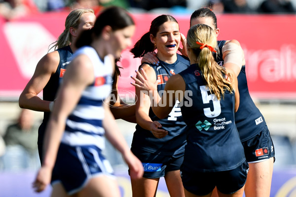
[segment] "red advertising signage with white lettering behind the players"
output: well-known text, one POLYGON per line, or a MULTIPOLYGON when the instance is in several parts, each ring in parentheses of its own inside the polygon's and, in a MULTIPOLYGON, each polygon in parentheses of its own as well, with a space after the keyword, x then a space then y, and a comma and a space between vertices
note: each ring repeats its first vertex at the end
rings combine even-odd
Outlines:
MULTIPOLYGON (((5 22, 0 18, 0 99, 18 99, 37 62, 64 30, 68 13, 40 13, 5 22)), ((187 33, 190 15, 174 15, 187 33)), ((148 32, 155 14, 133 14, 135 43, 148 32)), ((296 16, 219 15, 218 39, 237 39, 245 53, 249 90, 256 99, 296 99, 296 16)), ((122 53, 118 88, 134 91, 130 76, 140 65, 128 50, 122 53)))

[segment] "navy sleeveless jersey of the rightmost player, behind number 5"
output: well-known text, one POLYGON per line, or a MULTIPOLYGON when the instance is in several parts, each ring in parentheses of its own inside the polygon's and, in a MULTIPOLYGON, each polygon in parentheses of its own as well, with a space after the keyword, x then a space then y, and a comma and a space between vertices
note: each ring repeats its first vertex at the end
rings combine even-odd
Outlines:
MULTIPOLYGON (((219 40, 218 47, 220 54, 216 58, 216 62, 223 66, 222 58, 222 47, 224 46, 226 40, 219 40)), ((251 139, 259 132, 263 130, 266 123, 263 115, 255 105, 253 99, 250 96, 246 75, 246 66, 242 66, 238 80, 238 90, 239 90, 239 108, 235 113, 235 124, 239 132, 241 141, 246 141, 251 139)))

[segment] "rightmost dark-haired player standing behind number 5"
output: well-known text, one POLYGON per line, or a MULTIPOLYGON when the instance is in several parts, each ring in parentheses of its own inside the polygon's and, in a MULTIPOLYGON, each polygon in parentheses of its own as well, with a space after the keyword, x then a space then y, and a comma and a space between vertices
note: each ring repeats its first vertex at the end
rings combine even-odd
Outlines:
MULTIPOLYGON (((217 17, 209 8, 200 8, 192 13, 190 26, 195 24, 212 27, 217 36, 220 33, 217 17)), ((241 104, 235 113, 235 124, 250 166, 245 196, 269 197, 275 160, 274 146, 264 117, 249 93, 244 53, 237 40, 219 40, 218 48, 220 54, 215 56, 216 62, 235 70, 238 80, 241 104)), ((217 194, 212 197, 217 197, 217 194)))

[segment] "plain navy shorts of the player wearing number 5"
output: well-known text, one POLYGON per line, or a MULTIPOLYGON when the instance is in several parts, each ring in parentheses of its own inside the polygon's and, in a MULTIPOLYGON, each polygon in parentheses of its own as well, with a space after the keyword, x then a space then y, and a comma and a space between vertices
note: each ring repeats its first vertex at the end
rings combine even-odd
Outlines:
POLYGON ((249 164, 245 161, 237 168, 219 172, 192 172, 181 168, 184 188, 195 195, 210 194, 215 187, 223 194, 233 194, 246 183, 249 164))

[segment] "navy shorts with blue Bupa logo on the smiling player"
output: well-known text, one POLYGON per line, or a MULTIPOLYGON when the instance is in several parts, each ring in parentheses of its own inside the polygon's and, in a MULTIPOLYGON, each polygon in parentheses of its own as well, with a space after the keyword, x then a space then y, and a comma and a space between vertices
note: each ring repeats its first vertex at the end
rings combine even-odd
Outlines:
POLYGON ((132 152, 142 162, 145 178, 160 178, 169 171, 180 170, 184 160, 184 152, 176 155, 158 155, 133 149, 132 152))

